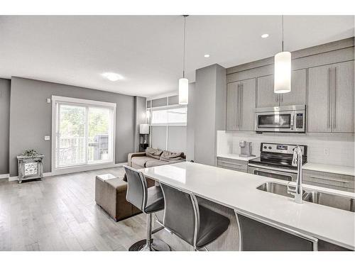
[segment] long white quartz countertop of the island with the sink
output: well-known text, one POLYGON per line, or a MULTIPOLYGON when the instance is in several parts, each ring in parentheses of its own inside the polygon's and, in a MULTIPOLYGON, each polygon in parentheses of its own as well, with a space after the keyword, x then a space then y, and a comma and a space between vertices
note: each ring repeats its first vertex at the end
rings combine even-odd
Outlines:
MULTIPOLYGON (((161 165, 141 171, 152 179, 192 192, 204 199, 354 250, 355 216, 351 211, 306 201, 297 204, 293 198, 256 189, 265 182, 287 184, 283 180, 194 162, 161 165)), ((303 186, 332 194, 355 196, 350 192, 306 184, 303 186)))

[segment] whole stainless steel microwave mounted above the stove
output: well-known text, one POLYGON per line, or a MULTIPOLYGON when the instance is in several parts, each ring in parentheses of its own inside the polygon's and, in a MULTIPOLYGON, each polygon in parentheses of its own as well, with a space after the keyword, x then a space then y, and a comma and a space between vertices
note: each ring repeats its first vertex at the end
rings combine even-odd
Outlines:
POLYGON ((256 108, 256 132, 305 133, 305 116, 304 105, 256 108))

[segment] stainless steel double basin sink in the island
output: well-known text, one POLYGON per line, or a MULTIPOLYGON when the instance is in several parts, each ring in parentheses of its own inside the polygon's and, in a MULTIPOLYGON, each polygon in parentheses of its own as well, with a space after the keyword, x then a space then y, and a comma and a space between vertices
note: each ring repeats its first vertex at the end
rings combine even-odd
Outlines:
MULTIPOLYGON (((267 182, 261 184, 256 189, 262 190, 264 192, 270 192, 273 194, 278 194, 281 196, 288 196, 292 198, 293 196, 288 194, 288 187, 285 184, 279 184, 275 182, 267 182)), ((310 189, 303 188, 302 199, 304 201, 312 202, 315 204, 320 204, 324 206, 329 206, 337 209, 342 209, 345 211, 354 212, 354 198, 349 196, 343 196, 339 194, 330 194, 328 192, 318 192, 312 191, 310 189)))

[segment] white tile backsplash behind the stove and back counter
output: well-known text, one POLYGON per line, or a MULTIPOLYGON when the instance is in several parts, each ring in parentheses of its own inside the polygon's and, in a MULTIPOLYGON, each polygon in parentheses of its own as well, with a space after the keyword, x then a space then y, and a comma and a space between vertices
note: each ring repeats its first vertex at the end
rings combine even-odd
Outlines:
POLYGON ((253 143, 253 155, 260 156, 260 143, 307 145, 307 161, 329 165, 354 166, 354 135, 268 135, 256 133, 227 133, 217 131, 217 155, 240 153, 239 140, 253 143))

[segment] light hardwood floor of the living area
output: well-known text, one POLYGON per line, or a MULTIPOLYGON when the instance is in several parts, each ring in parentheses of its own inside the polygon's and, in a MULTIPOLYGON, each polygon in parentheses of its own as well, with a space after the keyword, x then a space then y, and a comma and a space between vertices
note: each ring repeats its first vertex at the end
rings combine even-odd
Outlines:
POLYGON ((44 177, 0 180, 0 250, 128 250, 145 238, 146 216, 115 222, 94 201, 97 174, 122 167, 44 177))

